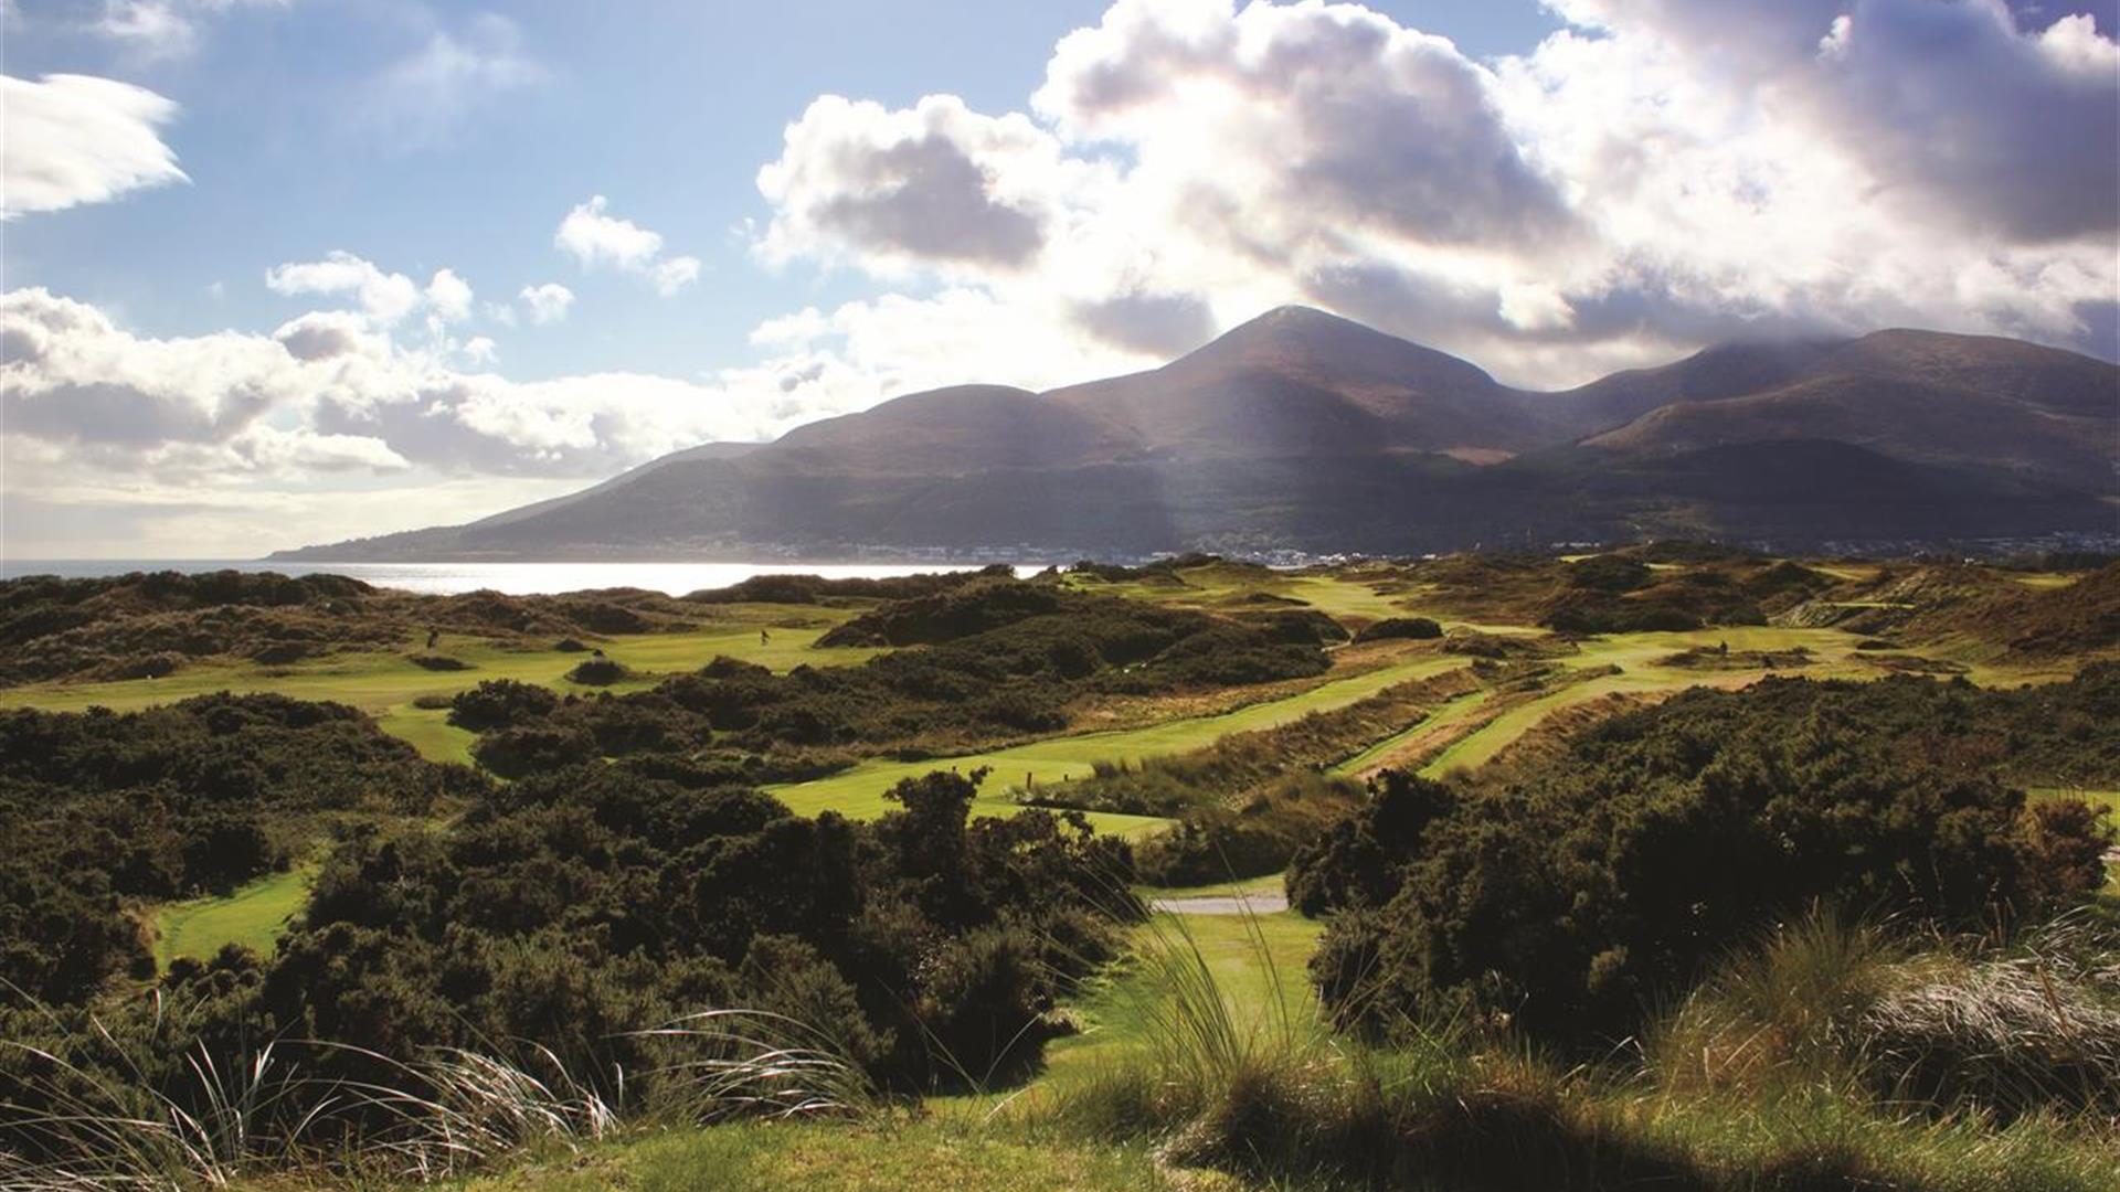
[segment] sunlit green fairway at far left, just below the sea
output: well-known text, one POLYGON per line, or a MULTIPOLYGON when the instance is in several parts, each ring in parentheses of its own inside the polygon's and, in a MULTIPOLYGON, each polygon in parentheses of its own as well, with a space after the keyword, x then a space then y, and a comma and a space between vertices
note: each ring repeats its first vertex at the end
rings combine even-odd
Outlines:
POLYGON ((581 664, 583 653, 555 649, 507 649, 485 638, 443 634, 435 653, 471 664, 471 670, 424 670, 407 653, 418 653, 424 641, 405 641, 403 651, 339 653, 299 662, 295 666, 220 664, 178 670, 165 679, 125 679, 117 683, 34 683, 0 691, 0 708, 81 711, 104 706, 131 711, 172 704, 212 691, 273 691, 295 700, 335 700, 352 704, 377 719, 384 732, 405 738, 435 761, 469 761, 471 734, 447 725, 447 713, 416 708, 420 696, 454 696, 483 679, 517 679, 541 683, 555 691, 640 691, 659 677, 697 670, 717 655, 740 658, 772 670, 795 666, 850 666, 876 658, 878 649, 816 649, 829 626, 818 621, 846 619, 844 609, 810 607, 744 607, 742 624, 721 624, 676 634, 634 634, 598 638, 596 645, 634 670, 634 679, 611 687, 581 687, 566 672, 581 664), (806 628, 770 628, 772 619, 801 619, 806 628), (770 643, 759 643, 767 626, 770 643))

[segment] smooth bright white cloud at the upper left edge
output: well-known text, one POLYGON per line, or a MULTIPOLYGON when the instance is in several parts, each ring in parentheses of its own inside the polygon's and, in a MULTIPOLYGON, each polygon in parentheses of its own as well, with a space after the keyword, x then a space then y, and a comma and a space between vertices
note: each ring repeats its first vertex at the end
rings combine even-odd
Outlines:
POLYGON ((42 81, 0 74, 0 218, 110 201, 127 191, 187 182, 161 125, 176 104, 131 83, 87 74, 42 81))

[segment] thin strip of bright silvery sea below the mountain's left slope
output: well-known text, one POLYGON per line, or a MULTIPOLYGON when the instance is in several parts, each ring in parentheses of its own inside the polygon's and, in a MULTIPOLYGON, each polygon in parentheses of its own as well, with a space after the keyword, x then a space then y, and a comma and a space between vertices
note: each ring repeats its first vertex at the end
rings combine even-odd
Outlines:
MULTIPOLYGON (((278 571, 280 575, 350 575, 377 588, 403 588, 430 596, 458 592, 507 592, 509 596, 541 596, 583 592, 589 588, 644 588, 683 596, 706 588, 729 588, 753 575, 823 575, 825 579, 886 579, 937 571, 977 571, 977 562, 282 562, 282 560, 214 560, 214 558, 6 558, 0 579, 23 575, 61 575, 95 579, 134 571, 278 571)), ((1018 564, 1015 575, 1030 575, 1041 564, 1018 564)))

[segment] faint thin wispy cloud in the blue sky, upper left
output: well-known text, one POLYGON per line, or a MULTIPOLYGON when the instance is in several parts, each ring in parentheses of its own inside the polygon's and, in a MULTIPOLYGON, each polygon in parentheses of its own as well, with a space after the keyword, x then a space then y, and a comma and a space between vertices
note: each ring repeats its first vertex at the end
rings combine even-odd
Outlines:
POLYGON ((435 148, 483 108, 543 81, 515 21, 483 13, 460 32, 435 30, 371 78, 358 112, 394 148, 435 148))

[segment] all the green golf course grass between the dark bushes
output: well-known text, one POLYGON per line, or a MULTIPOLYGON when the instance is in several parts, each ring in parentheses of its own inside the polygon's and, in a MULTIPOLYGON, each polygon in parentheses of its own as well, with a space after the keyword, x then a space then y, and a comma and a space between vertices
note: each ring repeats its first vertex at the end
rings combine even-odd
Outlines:
MULTIPOLYGON (((1671 577, 1685 568, 1656 562, 1647 571, 1671 577)), ((1851 585, 1876 583, 1883 575, 1883 568, 1872 564, 1821 564, 1817 571, 1851 585)), ((2012 653, 1963 628, 1880 647, 1874 630, 1836 628, 1838 621, 1798 624, 1800 617, 1779 615, 1764 626, 1711 624, 1692 630, 1556 634, 1533 624, 1537 600, 1543 598, 1537 583, 1516 579, 1520 588, 1514 594, 1495 596, 1482 592, 1478 583, 1452 585, 1448 573, 1444 579, 1410 579, 1410 575, 1427 573, 1391 566, 1272 573, 1208 562, 1164 573, 1151 568, 1121 579, 1068 575, 1062 581, 1066 588, 1166 609, 1198 609, 1238 619, 1306 609, 1331 615, 1346 630, 1361 630, 1386 617, 1431 617, 1448 636, 1325 645, 1331 666, 1323 674, 1283 677, 1257 687, 1230 685, 1149 696, 1111 694, 1136 691, 1115 687, 1071 706, 1075 723, 1071 732, 1020 734, 1007 744, 948 757, 907 759, 888 749, 871 749, 865 757, 854 755, 852 764, 837 761, 844 768, 823 778, 761 789, 797 814, 833 810, 854 821, 873 821, 897 810, 886 791, 901 781, 935 770, 969 774, 984 768, 990 776, 973 797, 971 814, 1009 817, 1026 806, 1028 795, 1064 802, 1064 793, 1054 791, 1081 783, 1100 764, 1138 766, 1147 759, 1204 751, 1234 734, 1297 725, 1304 717, 1348 708, 1389 687, 1459 670, 1478 683, 1463 679, 1461 685, 1442 687, 1442 694, 1416 713, 1319 721, 1357 725, 1353 732, 1329 730, 1342 736, 1327 736, 1325 728, 1304 728, 1297 734, 1312 734, 1302 738, 1304 749, 1314 751, 1317 740, 1331 744, 1333 751, 1323 757, 1338 761, 1317 761, 1319 753, 1304 757, 1306 766, 1323 766, 1338 778, 1370 778, 1386 768, 1418 768, 1420 774, 1435 778, 1473 774, 1473 778, 1452 778, 1463 783, 1478 781, 1476 772, 1482 766, 1526 738, 1529 747, 1514 757, 1543 759, 1545 751, 1556 749, 1552 742, 1565 740, 1565 732, 1573 725, 1609 715, 1609 708, 1656 704, 1688 687, 1738 689, 1770 674, 1880 679, 1902 670, 1963 674, 1982 687, 2016 687, 2067 679, 2086 658, 2012 653), (1340 747, 1348 753, 1340 753, 1340 747)), ((2067 594, 2075 579, 2014 575, 1999 583, 2048 596, 2067 594)), ((719 655, 761 664, 778 674, 795 666, 848 666, 882 651, 825 649, 816 641, 867 607, 873 604, 717 607, 706 613, 714 619, 708 628, 611 634, 594 638, 594 645, 630 670, 628 679, 608 687, 615 696, 644 691, 670 674, 695 672, 719 655), (761 628, 770 632, 770 641, 761 641, 761 628)), ((1827 619, 1923 613, 1912 602, 1883 598, 1821 596, 1808 609, 1827 619)), ((227 662, 184 668, 165 679, 21 685, 0 689, 0 708, 125 711, 223 689, 276 691, 299 700, 350 704, 373 717, 384 732, 411 742, 422 757, 471 761, 475 734, 447 725, 445 708, 420 708, 416 702, 437 704, 483 679, 517 679, 560 694, 598 691, 566 679, 583 653, 445 634, 432 653, 456 658, 466 668, 428 670, 409 658, 420 651, 418 636, 407 636, 403 649, 339 653, 290 666, 227 662)), ((2088 655, 2109 653, 2114 653, 2109 647, 2088 651, 2088 655)), ((721 738, 719 721, 712 736, 721 738)), ((994 736, 965 740, 994 740, 994 736)), ((1247 749, 1259 747, 1247 744, 1247 749)), ((623 768, 621 764, 611 770, 623 768)), ((1283 768, 1287 768, 1285 757, 1283 768)), ((1497 772, 1490 768, 1488 776, 1497 772)), ((1522 772, 1529 770, 1501 774, 1522 772)), ((2029 793, 2033 800, 2088 797, 2120 814, 2120 793, 2112 791, 2107 781, 2090 791, 2054 785, 2033 787, 2029 793)), ((1236 808, 1236 802, 1230 808, 1236 808)), ((1221 812, 1227 814, 1227 808, 1221 812)), ((1107 810, 1085 814, 1100 834, 1128 836, 1136 842, 1170 831, 1172 825, 1181 831, 1168 840, 1179 840, 1183 829, 1194 825, 1191 808, 1170 812, 1183 817, 1181 821, 1107 810)), ((1147 853, 1136 851, 1136 855, 1147 853)), ((129 904, 129 914, 148 921, 153 959, 163 971, 178 957, 208 959, 223 944, 242 944, 261 957, 271 957, 273 942, 301 914, 316 870, 312 859, 252 880, 227 897, 159 906, 136 901, 129 904)), ((1236 872, 1257 872, 1257 867, 1236 872)), ((1295 872, 1302 872, 1302 861, 1295 872)), ((2092 887, 2095 878, 2090 887, 2078 889, 2092 887)), ((507 1156, 498 1171, 454 1186, 466 1192, 676 1190, 697 1188, 702 1177, 710 1175, 714 1188, 736 1190, 1312 1188, 1325 1192, 1361 1181, 1346 1184, 1327 1175, 1319 1156, 1302 1158, 1310 1154, 1302 1147, 1317 1145, 1314 1139, 1304 1141, 1310 1135, 1302 1130, 1342 1128, 1344 1124, 1336 1124, 1331 1116, 1350 1111, 1348 1099, 1372 1097, 1395 1105, 1389 1114, 1395 1114, 1399 1124, 1427 1122, 1408 1126, 1414 1139, 1454 1137, 1450 1130, 1473 1122, 1471 1135, 1448 1145, 1471 1152, 1495 1145, 1516 1152, 1545 1147, 1554 1154, 1588 1147, 1584 1154, 1605 1156, 1598 1160, 1607 1164, 1601 1171, 1637 1162, 1628 1158, 1632 1154, 1628 1147, 1641 1147, 1641 1154, 1654 1154, 1656 1162, 1677 1164, 1668 1171, 1690 1173, 1677 1177, 1675 1186, 1681 1188, 1794 1188, 1779 1177, 1757 1177, 1762 1171, 1774 1171, 1781 1162, 1777 1156, 1785 1154, 1813 1156, 1806 1162, 1827 1162, 1830 1171, 1861 1173, 1861 1179, 1870 1181, 1838 1184, 1836 1177, 1819 1177, 1804 1188, 1874 1184, 1908 1192, 1959 1188, 1986 1192, 1999 1188, 1995 1173, 2018 1169, 2037 1173, 2031 1181, 2037 1188, 2065 1192, 2097 1188, 2095 1181, 2073 1173, 2095 1169, 2095 1158, 2086 1156, 2097 1156, 2109 1139, 2097 1130, 2086 1135, 2075 1124, 2037 1116, 2031 1124, 2012 1126, 1978 1118, 1921 1124, 1906 1116, 1872 1114, 1855 1099, 1840 1099, 1838 1092, 1823 1099, 1806 1092, 1808 1101, 1783 1101, 1779 1092, 1751 1088, 1732 1101, 1671 1097, 1649 1090, 1668 1075, 1654 1067, 1654 1056, 1605 1056, 1571 1065, 1529 1050, 1516 1035, 1495 1039, 1463 1022, 1427 1022, 1420 1027, 1423 1041, 1410 1050, 1403 1039, 1376 1050, 1374 1041, 1338 1035, 1321 1022, 1321 995, 1310 982, 1308 967, 1323 933, 1321 921, 1285 910, 1223 914, 1219 910, 1225 908, 1219 906, 1189 908, 1198 912, 1185 912, 1183 906, 1183 899, 1230 895, 1268 895, 1272 899, 1268 906, 1280 906, 1280 874, 1198 887, 1136 887, 1151 906, 1179 899, 1179 912, 1168 908, 1153 912, 1145 925, 1130 929, 1119 961, 1062 991, 1049 1018, 1064 1022, 1066 1031, 1043 1046, 1039 1063, 1028 1073, 1007 1077, 960 1073, 973 1077, 969 1088, 952 1084, 939 1094, 852 1116, 827 1114, 818 1120, 748 1120, 706 1130, 683 1122, 642 1120, 608 1135, 581 1135, 568 1126, 528 1139, 528 1147, 507 1156), (1206 1003, 1213 1010, 1204 1010, 1206 1003), (1433 1037, 1425 1035, 1427 1031, 1433 1031, 1433 1037), (1172 1069, 1172 1063, 1179 1067, 1172 1069), (1382 1084, 1374 1088, 1363 1084, 1374 1080, 1382 1084), (1747 1101, 1755 1092, 1760 1099, 1747 1101), (1242 1101, 1253 1094, 1266 1101, 1242 1101), (1480 1114, 1509 1105, 1518 1097, 1541 1105, 1543 1124, 1533 1128, 1507 1116, 1497 1118, 1499 1124, 1480 1124, 1484 1122, 1480 1114), (1153 1114, 1168 1118, 1151 1124, 1145 1116, 1153 1114), (1247 1114, 1264 1118, 1253 1120, 1247 1114), (1291 1124, 1308 1120, 1306 1116, 1319 1118, 1306 1126, 1291 1124), (1529 1141, 1522 1145, 1507 1141, 1512 1130, 1531 1130, 1529 1141), (1830 1145, 1821 1139, 1830 1139, 1830 1145), (1253 1150, 1247 1158, 1242 1147, 1266 1150, 1253 1150), (1268 1154, 1272 1147, 1283 1150, 1268 1154)), ((2105 914, 2120 906, 2114 904, 2116 889, 2120 870, 2107 884, 2105 914)), ((1825 1077, 1819 1077, 1819 1086, 1823 1082, 1825 1077)), ((1344 1156, 1327 1158, 1338 1162, 1344 1156)), ((237 1186, 252 1188, 242 1181, 237 1186)), ((324 1188, 333 1181, 267 1177, 254 1188, 301 1192, 312 1186, 324 1188)), ((1482 1192, 1486 1188, 1478 1181, 1448 1179, 1435 1186, 1482 1192)))

